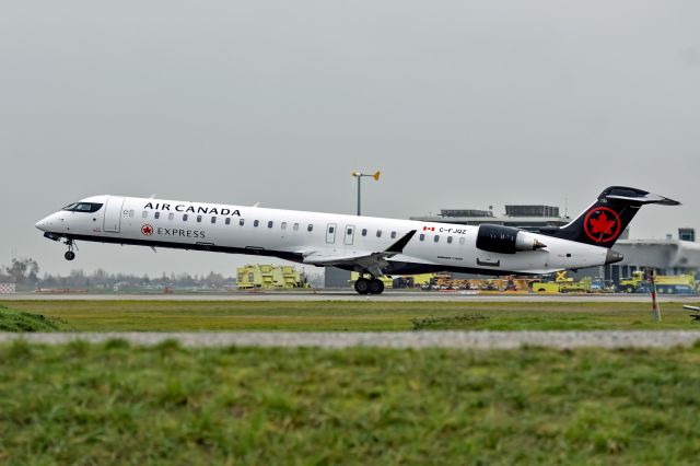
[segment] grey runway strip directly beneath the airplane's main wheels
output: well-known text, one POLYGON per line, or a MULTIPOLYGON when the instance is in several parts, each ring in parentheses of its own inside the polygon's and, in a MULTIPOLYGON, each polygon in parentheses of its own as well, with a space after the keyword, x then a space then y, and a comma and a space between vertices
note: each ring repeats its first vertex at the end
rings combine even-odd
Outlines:
MULTIPOLYGON (((12 293, 0 301, 376 301, 376 302, 541 302, 541 303, 648 303, 648 294, 474 294, 469 292, 387 291, 362 296, 352 291, 231 292, 175 294, 12 293)), ((699 295, 663 295, 660 302, 700 302, 699 295)))

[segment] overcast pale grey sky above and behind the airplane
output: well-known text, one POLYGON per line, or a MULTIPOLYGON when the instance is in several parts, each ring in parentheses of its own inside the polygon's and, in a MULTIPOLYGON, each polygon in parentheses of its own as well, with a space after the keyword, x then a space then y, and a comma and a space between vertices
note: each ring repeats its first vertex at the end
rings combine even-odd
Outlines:
POLYGON ((34 223, 96 194, 365 213, 677 198, 700 229, 700 2, 4 1, 0 264, 232 273, 243 256, 80 244, 34 223))

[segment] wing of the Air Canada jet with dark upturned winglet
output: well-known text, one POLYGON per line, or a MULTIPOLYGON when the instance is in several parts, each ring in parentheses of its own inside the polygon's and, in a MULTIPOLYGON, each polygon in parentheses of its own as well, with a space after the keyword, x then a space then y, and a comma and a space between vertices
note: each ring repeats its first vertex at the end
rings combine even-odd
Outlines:
POLYGON ((382 252, 357 252, 352 254, 325 254, 320 252, 308 253, 308 255, 304 257, 304 264, 314 266, 352 267, 358 270, 366 270, 375 277, 384 277, 382 270, 389 265, 386 259, 394 257, 397 254, 401 254, 415 234, 416 230, 411 230, 399 241, 382 252))

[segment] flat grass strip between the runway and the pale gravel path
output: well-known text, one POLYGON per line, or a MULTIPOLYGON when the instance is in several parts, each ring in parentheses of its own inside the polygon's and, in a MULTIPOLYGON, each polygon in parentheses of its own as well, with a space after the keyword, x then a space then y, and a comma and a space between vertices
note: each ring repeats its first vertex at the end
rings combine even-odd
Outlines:
POLYGON ((680 303, 651 321, 645 303, 3 301, 60 330, 593 330, 697 329, 680 303))

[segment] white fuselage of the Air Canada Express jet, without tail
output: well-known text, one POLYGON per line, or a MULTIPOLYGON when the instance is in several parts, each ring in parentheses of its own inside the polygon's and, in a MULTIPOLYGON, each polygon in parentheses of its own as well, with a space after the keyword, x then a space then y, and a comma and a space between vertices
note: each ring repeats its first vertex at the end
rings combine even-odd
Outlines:
MULTIPOLYGON (((400 254, 385 258, 385 275, 548 273, 609 261, 605 247, 528 232, 522 235, 541 246, 516 253, 483 251, 477 247, 479 228, 463 224, 119 196, 91 197, 71 206, 36 226, 54 240, 273 256, 311 265, 328 264, 318 258, 384 252, 415 232, 400 254)), ((369 271, 362 261, 329 265, 369 271)))

